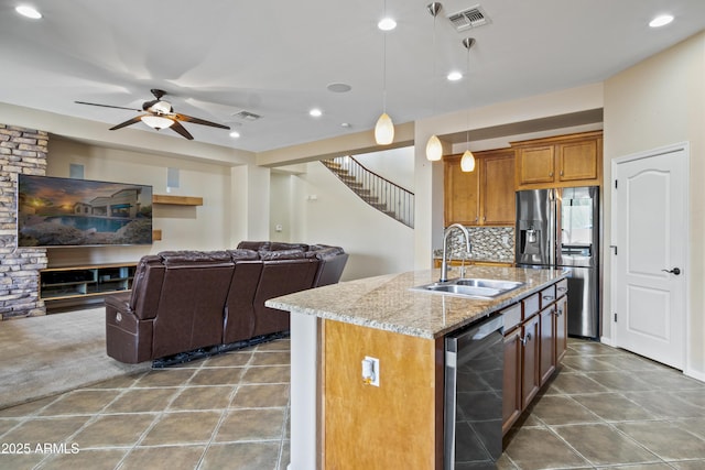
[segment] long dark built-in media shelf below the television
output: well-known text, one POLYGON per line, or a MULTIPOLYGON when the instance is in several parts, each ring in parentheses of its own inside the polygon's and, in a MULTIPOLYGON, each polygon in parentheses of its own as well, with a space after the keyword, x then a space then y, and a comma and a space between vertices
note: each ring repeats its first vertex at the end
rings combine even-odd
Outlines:
POLYGON ((40 298, 64 300, 132 288, 137 263, 94 264, 40 270, 40 298))

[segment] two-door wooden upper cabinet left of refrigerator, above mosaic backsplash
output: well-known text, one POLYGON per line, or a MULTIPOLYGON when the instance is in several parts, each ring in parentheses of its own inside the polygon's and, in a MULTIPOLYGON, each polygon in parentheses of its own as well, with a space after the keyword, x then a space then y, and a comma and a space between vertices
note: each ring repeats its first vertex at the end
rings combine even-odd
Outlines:
POLYGON ((469 173, 460 170, 460 157, 444 161, 445 226, 513 226, 514 151, 476 152, 469 173))

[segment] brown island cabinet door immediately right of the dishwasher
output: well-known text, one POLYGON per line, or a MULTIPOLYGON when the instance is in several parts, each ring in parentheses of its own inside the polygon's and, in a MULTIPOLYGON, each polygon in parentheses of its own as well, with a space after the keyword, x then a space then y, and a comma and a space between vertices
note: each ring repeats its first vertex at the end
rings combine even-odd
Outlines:
POLYGON ((521 415, 521 328, 505 336, 505 385, 502 391, 502 434, 521 415))

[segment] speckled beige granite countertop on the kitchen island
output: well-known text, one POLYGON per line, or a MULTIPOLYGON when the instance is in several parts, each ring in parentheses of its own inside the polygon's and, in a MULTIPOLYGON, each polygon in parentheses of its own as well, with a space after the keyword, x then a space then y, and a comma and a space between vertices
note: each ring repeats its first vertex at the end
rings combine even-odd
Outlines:
MULTIPOLYGON (((523 282, 521 287, 492 299, 411 291, 436 282, 441 270, 414 271, 348 281, 267 300, 281 310, 435 339, 495 310, 513 304, 565 277, 561 270, 466 266, 466 277, 523 282)), ((448 278, 459 270, 448 270, 448 278)))

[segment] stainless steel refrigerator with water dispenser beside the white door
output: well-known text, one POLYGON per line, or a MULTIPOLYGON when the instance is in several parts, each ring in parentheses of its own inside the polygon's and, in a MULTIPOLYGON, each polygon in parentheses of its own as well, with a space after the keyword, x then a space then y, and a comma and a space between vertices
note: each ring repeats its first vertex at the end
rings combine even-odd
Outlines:
POLYGON ((599 337, 599 187, 517 192, 517 266, 565 269, 568 335, 599 337))

